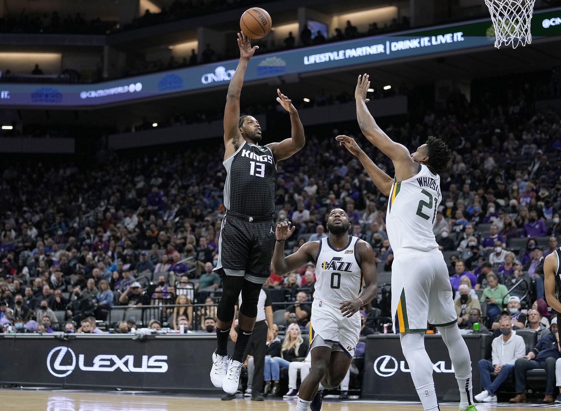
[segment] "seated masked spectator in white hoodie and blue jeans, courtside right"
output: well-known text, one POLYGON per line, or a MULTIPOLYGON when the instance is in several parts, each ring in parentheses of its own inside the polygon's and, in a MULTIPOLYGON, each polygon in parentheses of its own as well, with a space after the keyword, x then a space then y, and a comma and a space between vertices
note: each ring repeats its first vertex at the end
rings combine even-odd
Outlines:
POLYGON ((496 402, 496 391, 514 372, 514 363, 526 351, 524 339, 516 335, 510 318, 505 317, 500 320, 499 330, 501 335, 491 343, 491 361, 481 359, 477 364, 483 391, 473 397, 476 401, 496 402), (496 374, 493 382, 491 382, 491 373, 496 374))

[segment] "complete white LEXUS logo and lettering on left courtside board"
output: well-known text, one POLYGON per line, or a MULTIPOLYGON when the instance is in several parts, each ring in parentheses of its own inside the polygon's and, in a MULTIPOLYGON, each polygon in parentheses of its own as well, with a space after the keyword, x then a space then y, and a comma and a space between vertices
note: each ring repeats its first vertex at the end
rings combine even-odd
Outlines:
MULTIPOLYGON (((100 371, 113 372, 121 370, 122 372, 159 372, 168 371, 167 355, 142 355, 141 361, 135 361, 134 355, 125 355, 122 358, 114 354, 96 355, 91 365, 85 362, 84 354, 78 355, 77 366, 82 371, 100 371), (141 363, 140 367, 139 362, 141 363), (136 364, 136 365, 135 365, 136 364)), ((70 375, 76 368, 76 354, 68 347, 55 347, 50 350, 47 356, 47 369, 55 377, 66 377, 70 375), (72 363, 68 364, 68 360, 72 357, 72 363), (64 361, 66 359, 66 362, 64 361)))

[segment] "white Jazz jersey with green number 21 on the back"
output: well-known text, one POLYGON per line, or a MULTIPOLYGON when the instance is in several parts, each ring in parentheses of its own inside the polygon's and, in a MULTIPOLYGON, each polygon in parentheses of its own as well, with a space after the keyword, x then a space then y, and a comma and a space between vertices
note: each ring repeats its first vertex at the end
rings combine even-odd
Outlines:
POLYGON ((394 181, 386 215, 386 229, 394 256, 438 248, 433 225, 440 201, 440 176, 433 174, 426 165, 419 164, 415 176, 394 181))

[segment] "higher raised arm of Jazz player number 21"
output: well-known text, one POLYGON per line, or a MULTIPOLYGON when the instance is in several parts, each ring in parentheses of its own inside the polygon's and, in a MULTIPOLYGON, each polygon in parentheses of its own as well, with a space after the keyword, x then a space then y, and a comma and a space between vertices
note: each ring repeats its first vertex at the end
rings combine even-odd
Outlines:
POLYGON ((374 117, 370 114, 366 103, 366 92, 370 87, 369 76, 358 76, 355 89, 356 99, 356 118, 362 134, 374 144, 382 153, 392 159, 396 168, 396 178, 398 181, 415 176, 418 172, 418 165, 411 158, 411 154, 405 146, 398 144, 389 138, 386 133, 376 124, 374 117))

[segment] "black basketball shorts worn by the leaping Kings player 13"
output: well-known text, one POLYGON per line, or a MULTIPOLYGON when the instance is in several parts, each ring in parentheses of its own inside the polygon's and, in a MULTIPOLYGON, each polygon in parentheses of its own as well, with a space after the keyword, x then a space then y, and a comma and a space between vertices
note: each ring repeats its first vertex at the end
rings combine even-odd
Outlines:
POLYGON ((218 242, 219 275, 244 277, 252 283, 263 284, 271 274, 271 259, 275 246, 273 219, 257 218, 230 211, 222 219, 218 242))

